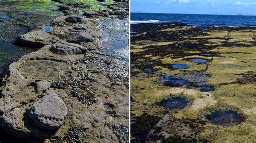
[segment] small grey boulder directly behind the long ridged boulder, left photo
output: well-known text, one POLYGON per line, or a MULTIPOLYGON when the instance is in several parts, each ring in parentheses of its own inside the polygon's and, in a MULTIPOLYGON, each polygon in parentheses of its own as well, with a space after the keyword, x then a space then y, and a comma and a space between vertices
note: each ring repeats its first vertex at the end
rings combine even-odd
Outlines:
POLYGON ((94 42, 95 38, 91 35, 81 32, 81 33, 71 33, 69 34, 68 42, 79 43, 79 42, 94 42))

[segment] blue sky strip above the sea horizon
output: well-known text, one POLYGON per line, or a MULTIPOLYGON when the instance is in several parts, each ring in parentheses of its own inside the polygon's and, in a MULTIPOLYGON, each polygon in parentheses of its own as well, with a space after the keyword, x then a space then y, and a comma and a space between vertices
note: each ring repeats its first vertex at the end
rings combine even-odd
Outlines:
POLYGON ((131 12, 256 15, 256 0, 130 0, 131 12))

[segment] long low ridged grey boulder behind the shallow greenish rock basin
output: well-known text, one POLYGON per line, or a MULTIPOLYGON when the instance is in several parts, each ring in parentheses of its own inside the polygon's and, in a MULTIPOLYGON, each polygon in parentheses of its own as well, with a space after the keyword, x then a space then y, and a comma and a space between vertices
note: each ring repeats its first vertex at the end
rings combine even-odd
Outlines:
POLYGON ((77 55, 85 53, 87 48, 69 42, 57 42, 56 44, 52 45, 50 51, 59 55, 77 55))

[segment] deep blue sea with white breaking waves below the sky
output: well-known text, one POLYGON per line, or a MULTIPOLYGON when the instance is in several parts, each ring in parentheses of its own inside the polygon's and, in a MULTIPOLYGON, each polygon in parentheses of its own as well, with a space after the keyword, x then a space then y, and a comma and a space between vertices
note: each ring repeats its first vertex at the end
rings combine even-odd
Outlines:
POLYGON ((131 13, 131 24, 180 22, 191 26, 256 26, 256 16, 131 13))

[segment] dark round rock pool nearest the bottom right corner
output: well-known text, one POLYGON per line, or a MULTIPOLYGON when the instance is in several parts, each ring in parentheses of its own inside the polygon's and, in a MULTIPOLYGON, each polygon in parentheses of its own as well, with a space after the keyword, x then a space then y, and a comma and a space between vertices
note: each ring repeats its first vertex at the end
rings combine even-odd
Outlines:
POLYGON ((206 115, 206 119, 215 125, 233 125, 243 120, 242 116, 234 110, 217 110, 206 115))

